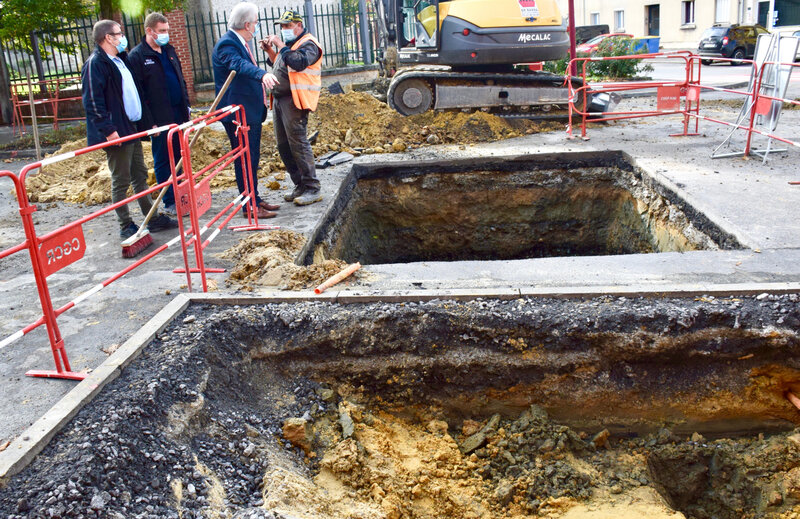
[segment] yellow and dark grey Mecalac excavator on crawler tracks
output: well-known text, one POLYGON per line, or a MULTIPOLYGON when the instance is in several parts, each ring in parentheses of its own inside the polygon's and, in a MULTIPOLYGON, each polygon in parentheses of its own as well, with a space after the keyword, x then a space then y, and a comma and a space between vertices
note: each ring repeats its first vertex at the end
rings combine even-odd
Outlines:
POLYGON ((566 107, 564 76, 542 72, 539 63, 569 53, 556 0, 373 0, 373 5, 378 62, 381 74, 391 77, 387 102, 401 114, 479 109, 552 119, 551 111, 566 107))

